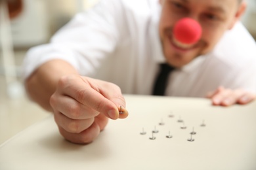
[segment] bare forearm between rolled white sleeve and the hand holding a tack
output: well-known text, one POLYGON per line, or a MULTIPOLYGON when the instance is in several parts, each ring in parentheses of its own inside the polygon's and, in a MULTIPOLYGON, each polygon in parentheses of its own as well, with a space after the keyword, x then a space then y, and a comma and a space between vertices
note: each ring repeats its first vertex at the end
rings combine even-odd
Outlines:
POLYGON ((51 95, 61 76, 78 74, 77 71, 64 60, 54 59, 36 69, 25 82, 26 91, 31 99, 46 110, 53 111, 49 103, 51 95))

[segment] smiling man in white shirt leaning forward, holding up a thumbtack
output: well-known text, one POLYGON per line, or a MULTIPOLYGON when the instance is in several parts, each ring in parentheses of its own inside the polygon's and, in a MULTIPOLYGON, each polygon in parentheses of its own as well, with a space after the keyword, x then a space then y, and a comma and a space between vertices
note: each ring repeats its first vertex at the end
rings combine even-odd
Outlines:
POLYGON ((26 89, 54 112, 60 133, 73 143, 93 141, 108 118, 126 118, 121 92, 152 94, 160 63, 175 67, 165 95, 249 103, 256 45, 238 22, 244 10, 238 0, 102 0, 50 44, 28 52, 26 89), (198 42, 175 40, 173 27, 182 18, 200 23, 198 42))

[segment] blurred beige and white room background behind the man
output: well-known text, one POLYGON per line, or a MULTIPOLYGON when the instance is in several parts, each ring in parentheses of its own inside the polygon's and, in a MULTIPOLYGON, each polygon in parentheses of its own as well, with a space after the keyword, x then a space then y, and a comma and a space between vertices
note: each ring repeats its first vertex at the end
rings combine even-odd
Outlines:
MULTIPOLYGON (((0 144, 48 116, 47 112, 29 101, 22 92, 23 87, 15 82, 20 83, 20 67, 28 48, 48 42, 75 13, 89 9, 98 0, 0 0, 3 1, 18 1, 22 3, 22 9, 14 14, 10 23, 4 18, 3 7, 0 9, 0 144), (16 78, 7 78, 7 72, 16 78)), ((247 0, 247 3, 242 22, 256 39, 256 0, 247 0)), ((13 8, 17 7, 14 5, 13 8)))

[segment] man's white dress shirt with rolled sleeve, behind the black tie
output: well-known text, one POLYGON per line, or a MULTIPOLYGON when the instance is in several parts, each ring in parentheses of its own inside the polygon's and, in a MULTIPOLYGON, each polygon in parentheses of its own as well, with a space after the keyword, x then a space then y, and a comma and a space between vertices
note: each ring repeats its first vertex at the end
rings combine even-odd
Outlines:
MULTIPOLYGON (((64 59, 79 74, 114 82, 123 93, 150 95, 165 61, 160 12, 158 0, 102 0, 77 14, 49 44, 30 49, 24 78, 46 61, 64 59)), ((212 52, 173 71, 166 95, 204 97, 218 86, 256 93, 256 44, 241 23, 212 52)))

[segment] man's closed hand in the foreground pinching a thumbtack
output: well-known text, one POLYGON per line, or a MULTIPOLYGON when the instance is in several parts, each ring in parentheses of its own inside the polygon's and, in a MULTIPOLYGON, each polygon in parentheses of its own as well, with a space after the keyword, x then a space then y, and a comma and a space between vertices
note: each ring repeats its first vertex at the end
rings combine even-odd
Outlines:
POLYGON ((108 118, 128 116, 118 86, 79 75, 62 76, 50 104, 60 133, 72 143, 91 143, 104 129, 108 118), (122 114, 119 114, 120 106, 122 114))

